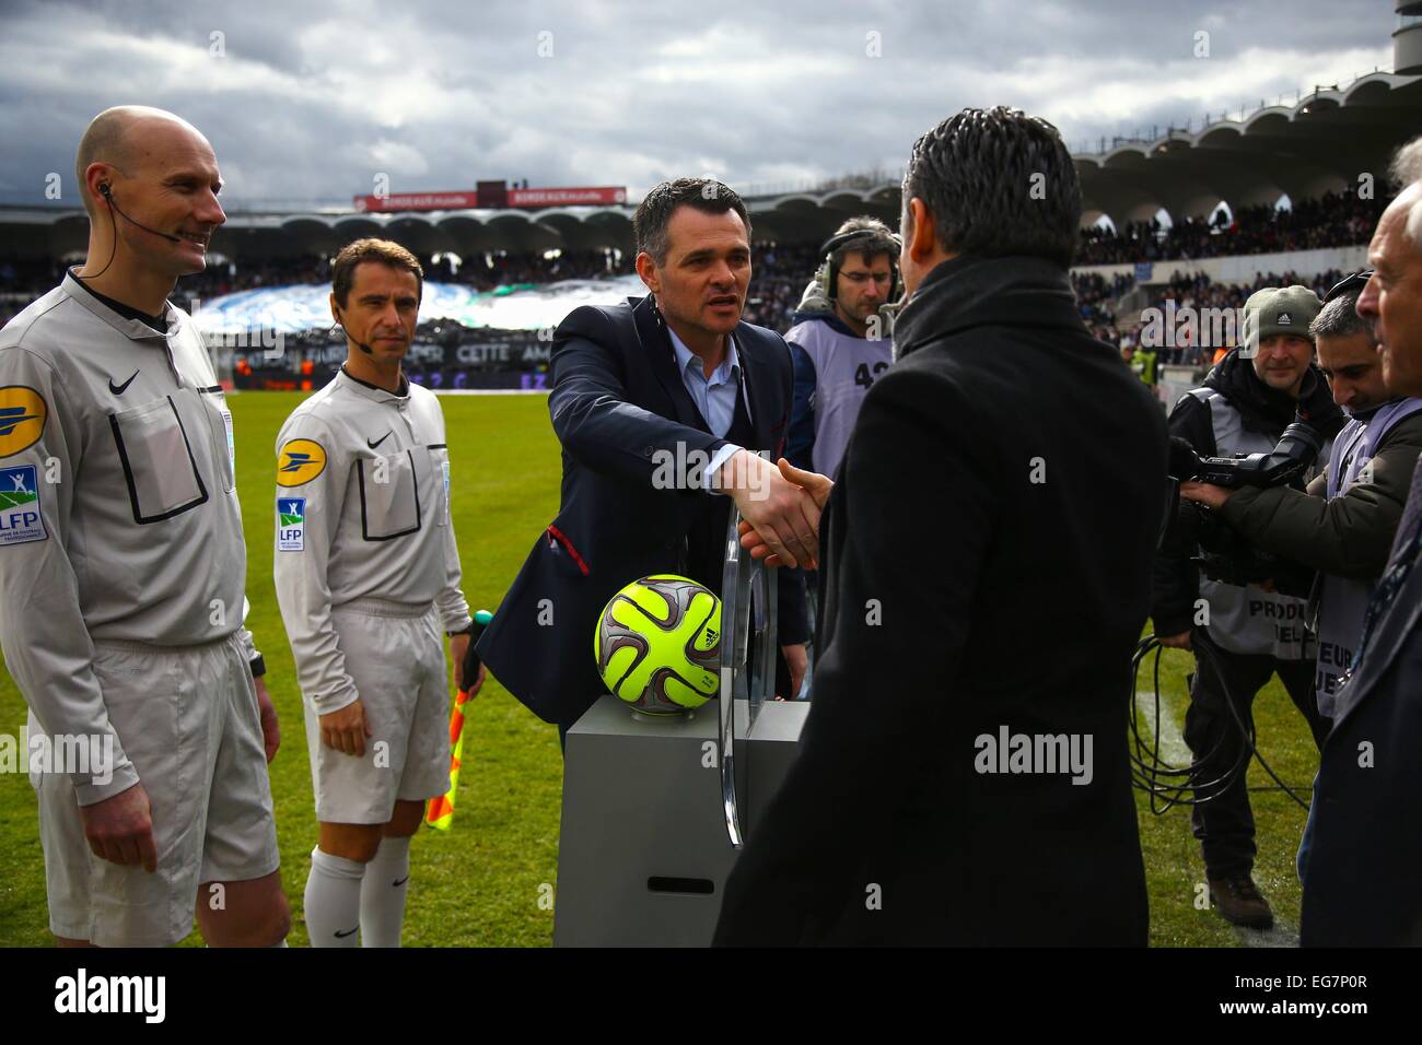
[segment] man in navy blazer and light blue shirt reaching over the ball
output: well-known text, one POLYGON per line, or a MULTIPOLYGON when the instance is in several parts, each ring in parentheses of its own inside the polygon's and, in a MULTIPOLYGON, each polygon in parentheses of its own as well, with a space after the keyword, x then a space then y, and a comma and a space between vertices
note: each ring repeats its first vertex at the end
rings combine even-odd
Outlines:
MULTIPOLYGON (((819 508, 758 456, 784 449, 792 367, 779 334, 741 321, 745 205, 678 178, 647 193, 633 232, 647 297, 576 309, 555 333, 562 503, 478 645, 560 738, 606 692, 592 640, 619 589, 678 573, 720 594, 732 502, 786 564, 819 553, 819 508)), ((802 600, 781 600, 779 631, 803 664, 802 600)))

